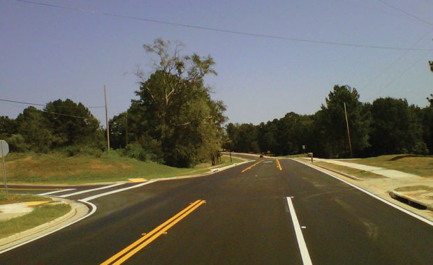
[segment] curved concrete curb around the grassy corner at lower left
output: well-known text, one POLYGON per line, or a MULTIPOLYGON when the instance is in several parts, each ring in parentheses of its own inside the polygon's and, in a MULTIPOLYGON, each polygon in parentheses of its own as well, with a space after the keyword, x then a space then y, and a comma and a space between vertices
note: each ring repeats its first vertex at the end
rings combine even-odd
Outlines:
MULTIPOLYGON (((49 197, 49 196, 45 196, 49 197)), ((68 211, 65 215, 60 216, 50 222, 45 222, 42 225, 38 225, 37 227, 33 227, 31 229, 27 229, 25 231, 19 232, 17 234, 13 234, 7 236, 3 239, 0 239, 0 251, 6 250, 7 248, 13 247, 14 245, 18 245, 22 242, 29 241, 38 236, 41 236, 41 233, 50 232, 51 229, 62 225, 64 222, 68 222, 71 219, 80 218, 86 215, 89 212, 89 208, 86 204, 82 204, 80 202, 71 201, 69 199, 59 198, 59 197, 50 197, 54 202, 65 202, 71 206, 71 211, 68 211), (82 207, 85 206, 87 211, 84 213, 82 207)))

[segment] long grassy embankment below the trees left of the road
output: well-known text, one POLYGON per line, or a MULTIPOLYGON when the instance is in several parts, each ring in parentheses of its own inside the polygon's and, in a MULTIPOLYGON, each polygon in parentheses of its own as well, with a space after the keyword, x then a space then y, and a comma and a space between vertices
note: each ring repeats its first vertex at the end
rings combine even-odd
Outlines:
MULTIPOLYGON (((156 179, 168 176, 200 174, 210 169, 230 165, 230 158, 223 156, 221 164, 210 163, 194 168, 177 168, 156 162, 142 162, 134 158, 105 153, 94 156, 66 157, 62 153, 29 154, 10 153, 6 157, 8 183, 98 183, 126 181, 133 178, 156 179)), ((243 162, 233 158, 233 163, 243 162)))

